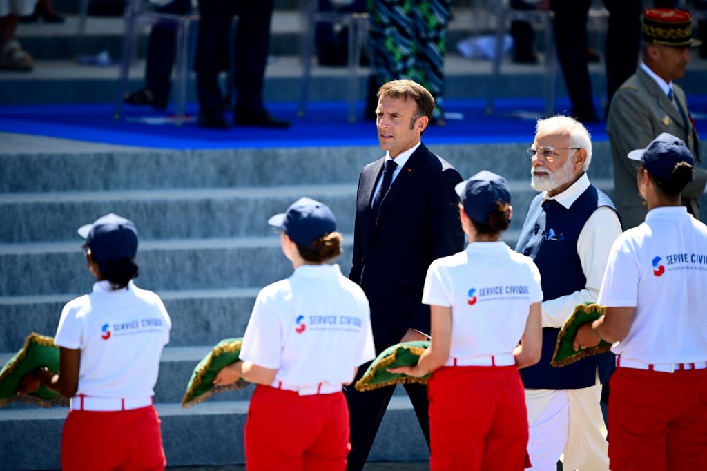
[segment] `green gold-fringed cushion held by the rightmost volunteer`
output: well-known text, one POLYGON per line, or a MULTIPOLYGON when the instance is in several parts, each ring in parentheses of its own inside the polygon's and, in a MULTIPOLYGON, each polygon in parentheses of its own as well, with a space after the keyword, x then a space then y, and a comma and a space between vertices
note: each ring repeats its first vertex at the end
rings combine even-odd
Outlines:
POLYGON ((606 306, 601 306, 596 303, 585 303, 575 307, 572 315, 565 321, 559 335, 557 336, 557 344, 555 353, 550 361, 551 366, 561 368, 562 366, 571 365, 580 361, 583 358, 592 355, 602 354, 612 348, 612 344, 600 340, 595 347, 588 349, 579 349, 575 351, 573 344, 577 337, 577 330, 587 322, 594 322, 602 317, 607 312, 606 306))

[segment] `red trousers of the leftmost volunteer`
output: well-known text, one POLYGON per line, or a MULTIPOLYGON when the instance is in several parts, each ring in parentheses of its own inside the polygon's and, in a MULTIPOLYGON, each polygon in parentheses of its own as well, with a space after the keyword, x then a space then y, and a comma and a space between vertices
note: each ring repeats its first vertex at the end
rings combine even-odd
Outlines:
POLYGON ((69 411, 62 434, 63 471, 161 471, 165 465, 154 407, 69 411))

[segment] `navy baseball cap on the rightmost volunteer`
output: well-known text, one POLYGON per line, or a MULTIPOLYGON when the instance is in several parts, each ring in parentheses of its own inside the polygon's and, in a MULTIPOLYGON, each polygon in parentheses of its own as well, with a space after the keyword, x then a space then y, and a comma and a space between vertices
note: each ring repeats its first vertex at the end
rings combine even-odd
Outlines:
POLYGON ((686 162, 695 165, 692 153, 690 149, 687 149, 685 143, 667 132, 650 141, 645 149, 629 152, 628 157, 633 161, 643 163, 645 170, 661 180, 670 178, 677 163, 686 162))

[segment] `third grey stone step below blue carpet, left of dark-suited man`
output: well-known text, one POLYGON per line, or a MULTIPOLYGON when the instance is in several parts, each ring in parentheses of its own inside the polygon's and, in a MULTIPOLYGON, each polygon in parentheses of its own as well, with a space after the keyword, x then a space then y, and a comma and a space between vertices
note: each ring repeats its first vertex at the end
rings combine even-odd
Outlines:
MULTIPOLYGON (((351 240, 346 237, 344 254, 351 253, 351 240)), ((74 243, 0 246, 0 272, 23 274, 5 279, 0 296, 86 291, 93 279, 82 257, 74 243)), ((339 262, 348 273, 351 256, 343 255, 339 262)), ((264 286, 292 272, 277 236, 144 241, 138 263, 139 286, 151 291, 264 286)))

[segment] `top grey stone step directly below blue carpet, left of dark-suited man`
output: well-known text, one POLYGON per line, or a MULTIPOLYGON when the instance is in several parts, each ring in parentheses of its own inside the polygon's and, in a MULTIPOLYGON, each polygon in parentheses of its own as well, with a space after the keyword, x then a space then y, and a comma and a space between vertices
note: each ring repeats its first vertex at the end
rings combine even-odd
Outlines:
MULTIPOLYGON (((376 144, 373 124, 371 141, 376 144)), ((363 165, 384 155, 373 145, 208 151, 125 147, 81 152, 71 151, 67 141, 65 148, 57 150, 0 150, 4 173, 0 201, 14 192, 355 185, 363 165)))

